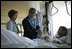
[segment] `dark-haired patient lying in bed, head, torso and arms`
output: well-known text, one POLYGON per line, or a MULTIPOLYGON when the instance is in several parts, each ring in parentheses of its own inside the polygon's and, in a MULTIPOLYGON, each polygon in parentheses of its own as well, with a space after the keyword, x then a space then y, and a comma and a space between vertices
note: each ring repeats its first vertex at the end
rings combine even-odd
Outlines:
POLYGON ((58 29, 58 33, 54 38, 51 38, 51 36, 44 36, 43 38, 44 40, 49 41, 49 42, 53 42, 57 44, 64 44, 66 43, 68 33, 69 32, 66 27, 60 26, 58 29))

